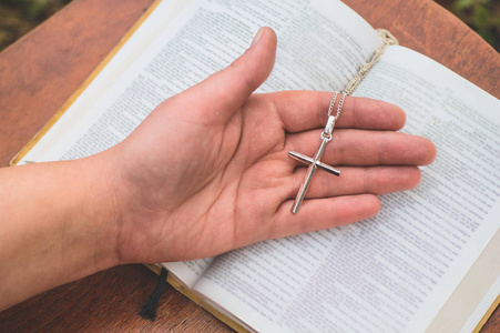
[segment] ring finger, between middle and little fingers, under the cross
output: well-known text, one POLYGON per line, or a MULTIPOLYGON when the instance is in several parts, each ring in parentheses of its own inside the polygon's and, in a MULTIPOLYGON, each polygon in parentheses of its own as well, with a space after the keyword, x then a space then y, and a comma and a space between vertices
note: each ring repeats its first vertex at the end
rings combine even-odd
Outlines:
MULTIPOLYGON (((313 178, 306 199, 354 194, 387 194, 411 190, 420 182, 418 167, 340 168, 340 176, 318 170, 313 178)), ((295 198, 307 173, 307 168, 295 170, 288 184, 288 196, 295 198)))

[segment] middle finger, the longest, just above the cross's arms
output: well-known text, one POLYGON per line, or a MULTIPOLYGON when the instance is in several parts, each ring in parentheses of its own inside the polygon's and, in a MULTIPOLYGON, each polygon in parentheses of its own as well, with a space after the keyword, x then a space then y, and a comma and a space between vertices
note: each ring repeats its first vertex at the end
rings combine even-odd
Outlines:
MULTIPOLYGON (((286 151, 313 157, 322 130, 288 134, 286 151)), ((433 143, 417 135, 391 131, 335 130, 322 161, 331 165, 427 165, 436 158, 433 143)), ((295 165, 299 165, 298 162, 295 165)))

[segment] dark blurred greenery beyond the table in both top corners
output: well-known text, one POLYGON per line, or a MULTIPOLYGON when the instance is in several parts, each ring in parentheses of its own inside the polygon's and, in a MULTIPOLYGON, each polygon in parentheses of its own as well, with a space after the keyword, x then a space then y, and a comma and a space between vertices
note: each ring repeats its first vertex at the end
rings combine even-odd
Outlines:
MULTIPOLYGON (((105 1, 105 0, 102 0, 105 1)), ((71 0, 0 0, 0 51, 71 0)), ((436 0, 500 51, 500 0, 436 0)))

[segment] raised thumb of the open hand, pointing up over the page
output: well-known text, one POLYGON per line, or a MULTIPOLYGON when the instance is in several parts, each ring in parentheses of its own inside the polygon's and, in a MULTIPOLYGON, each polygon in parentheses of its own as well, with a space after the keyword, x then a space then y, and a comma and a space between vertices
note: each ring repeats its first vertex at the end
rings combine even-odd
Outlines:
POLYGON ((276 33, 264 27, 252 46, 231 65, 208 77, 180 95, 190 101, 187 109, 194 117, 210 122, 225 123, 267 79, 276 58, 276 33))

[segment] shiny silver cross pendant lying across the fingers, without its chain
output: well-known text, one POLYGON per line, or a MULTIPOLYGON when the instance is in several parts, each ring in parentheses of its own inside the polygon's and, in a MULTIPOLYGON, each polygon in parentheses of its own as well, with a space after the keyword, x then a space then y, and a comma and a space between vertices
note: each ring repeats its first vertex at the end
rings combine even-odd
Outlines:
POLYGON ((290 151, 288 153, 290 158, 293 158, 297 161, 300 161, 305 164, 309 164, 309 168, 308 168, 307 174, 306 174, 306 179, 304 180, 304 183, 302 184, 300 190, 298 190, 297 196, 295 198, 295 202, 292 208, 292 213, 294 213, 294 214, 298 212, 298 209, 300 208, 300 204, 304 201, 304 198, 306 196, 306 192, 307 192, 307 189, 309 188, 310 181, 313 180, 313 175, 318 168, 322 170, 325 170, 331 174, 335 174, 337 176, 340 175, 339 170, 319 161, 323 153, 325 152, 326 144, 331 141, 331 132, 334 131, 335 120, 336 120, 335 117, 333 117, 333 115, 328 117, 328 121, 326 123, 325 131, 322 132, 322 144, 319 145, 318 151, 317 151, 316 155, 314 157, 314 159, 306 157, 302 153, 295 152, 295 151, 290 151))

